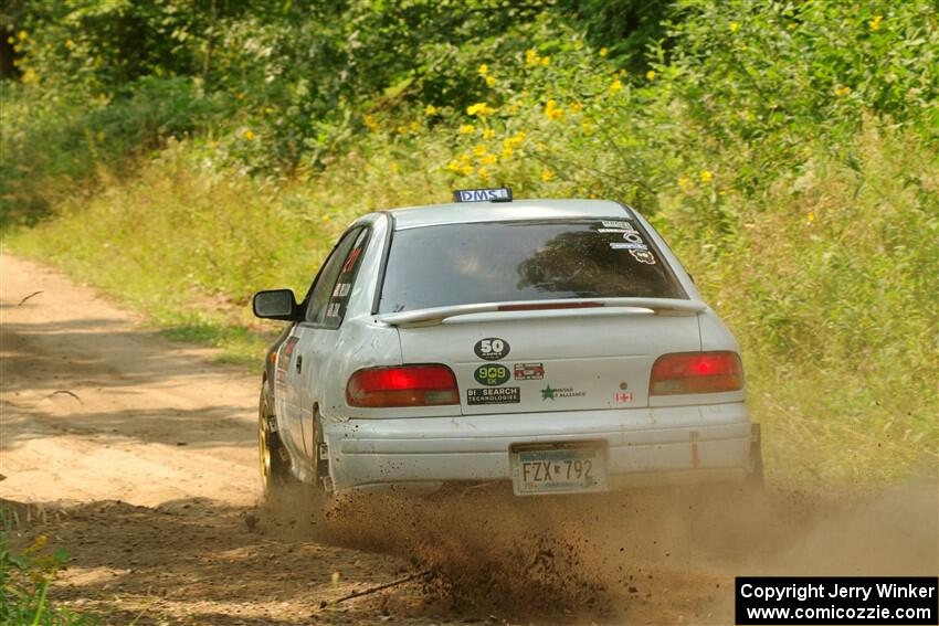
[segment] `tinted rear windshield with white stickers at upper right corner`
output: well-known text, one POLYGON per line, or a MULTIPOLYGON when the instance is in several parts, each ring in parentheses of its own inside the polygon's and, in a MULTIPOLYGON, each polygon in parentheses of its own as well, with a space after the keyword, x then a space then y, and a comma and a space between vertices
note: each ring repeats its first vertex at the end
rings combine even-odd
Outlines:
POLYGON ((443 224, 394 232, 379 312, 618 297, 687 297, 632 220, 443 224))

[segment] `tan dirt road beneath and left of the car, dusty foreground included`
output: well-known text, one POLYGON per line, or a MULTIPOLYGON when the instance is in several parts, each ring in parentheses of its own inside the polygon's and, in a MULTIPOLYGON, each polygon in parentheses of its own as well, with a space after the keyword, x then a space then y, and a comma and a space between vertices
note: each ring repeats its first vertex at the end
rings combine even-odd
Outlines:
POLYGON ((935 482, 259 507, 255 376, 36 264, 0 287, 0 495, 38 505, 12 541, 67 548, 53 600, 106 623, 728 624, 735 575, 939 570, 935 482))

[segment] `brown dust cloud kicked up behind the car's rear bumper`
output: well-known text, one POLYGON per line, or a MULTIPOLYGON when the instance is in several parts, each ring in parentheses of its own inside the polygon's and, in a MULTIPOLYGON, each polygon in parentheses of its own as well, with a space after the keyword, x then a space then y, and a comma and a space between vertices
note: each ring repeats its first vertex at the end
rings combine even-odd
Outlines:
POLYGON ((503 487, 316 502, 263 531, 408 560, 429 605, 546 622, 729 623, 737 575, 936 575, 935 479, 867 492, 694 488, 520 499, 503 487))

